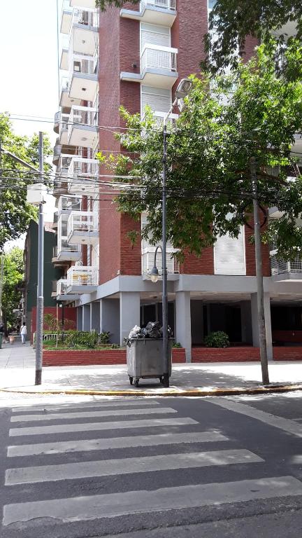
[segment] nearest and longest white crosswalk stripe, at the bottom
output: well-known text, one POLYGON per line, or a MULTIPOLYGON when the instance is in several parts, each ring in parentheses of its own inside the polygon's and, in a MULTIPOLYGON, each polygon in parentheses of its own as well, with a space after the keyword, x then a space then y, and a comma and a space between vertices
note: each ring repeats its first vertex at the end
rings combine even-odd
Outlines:
POLYGON ((62 523, 125 516, 132 513, 183 509, 207 504, 251 501, 302 495, 302 483, 293 476, 239 482, 185 485, 152 491, 23 502, 4 506, 3 525, 55 518, 62 523))

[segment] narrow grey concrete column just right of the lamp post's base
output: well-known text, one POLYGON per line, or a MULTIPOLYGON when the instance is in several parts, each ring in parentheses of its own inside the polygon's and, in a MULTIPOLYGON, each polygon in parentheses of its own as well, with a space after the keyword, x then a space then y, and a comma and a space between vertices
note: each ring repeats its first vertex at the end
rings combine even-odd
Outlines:
POLYGON ((191 336, 191 300, 189 291, 178 291, 175 294, 176 307, 176 341, 185 347, 186 361, 192 359, 191 336))

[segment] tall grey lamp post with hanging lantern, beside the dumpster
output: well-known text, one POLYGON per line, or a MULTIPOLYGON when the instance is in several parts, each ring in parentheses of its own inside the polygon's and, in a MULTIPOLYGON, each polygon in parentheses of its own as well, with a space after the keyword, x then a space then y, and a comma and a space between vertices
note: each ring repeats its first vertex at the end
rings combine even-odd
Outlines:
MULTIPOLYGON (((192 81, 189 78, 182 78, 178 87, 175 91, 175 100, 172 103, 171 109, 164 116, 164 127, 163 127, 163 173, 162 173, 162 247, 161 256, 162 256, 162 331, 163 331, 163 358, 164 358, 164 376, 163 376, 163 385, 164 387, 169 386, 169 375, 168 375, 168 293, 167 293, 167 267, 166 267, 166 176, 167 176, 167 123, 168 118, 173 111, 173 108, 176 104, 179 103, 179 107, 182 109, 182 99, 184 99, 192 88, 192 81)), ((157 249, 155 250, 154 256, 154 267, 151 271, 151 280, 152 282, 157 282, 158 270, 156 266, 156 255, 157 249), (154 280, 156 278, 156 280, 154 280)))

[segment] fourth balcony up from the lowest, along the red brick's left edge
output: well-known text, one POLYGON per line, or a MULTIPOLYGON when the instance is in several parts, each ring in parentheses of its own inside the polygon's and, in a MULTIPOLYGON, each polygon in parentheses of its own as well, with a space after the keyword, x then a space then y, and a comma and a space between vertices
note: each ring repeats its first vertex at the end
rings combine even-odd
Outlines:
POLYGON ((72 106, 68 125, 70 146, 93 148, 97 144, 97 111, 89 106, 72 106))

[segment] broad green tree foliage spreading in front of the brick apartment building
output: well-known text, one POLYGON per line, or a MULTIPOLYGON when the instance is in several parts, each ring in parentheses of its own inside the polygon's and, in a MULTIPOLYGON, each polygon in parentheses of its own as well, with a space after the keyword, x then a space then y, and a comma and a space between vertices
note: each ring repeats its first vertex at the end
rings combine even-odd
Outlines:
MULTIPOLYGON (((185 109, 168 127, 167 236, 180 257, 187 250, 201 254, 224 233, 236 237, 250 219, 252 156, 261 207, 277 206, 283 213, 270 228, 280 253, 292 256, 301 249, 296 219, 302 213, 302 181, 290 149, 295 132, 302 130, 302 76, 293 81, 287 76, 301 46, 293 42, 287 50, 287 80, 275 72, 277 53, 271 41, 229 76, 192 77, 185 109)), ((120 193, 117 205, 136 220, 148 212, 143 236, 156 244, 161 239, 162 126, 150 109, 143 121, 124 109, 122 116, 129 130, 117 138, 126 151, 99 158, 119 176, 138 177, 136 186, 120 193)))

